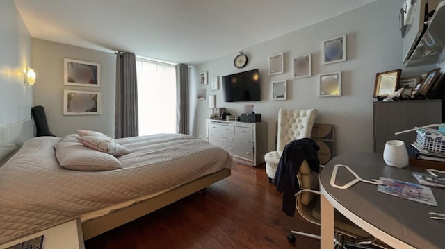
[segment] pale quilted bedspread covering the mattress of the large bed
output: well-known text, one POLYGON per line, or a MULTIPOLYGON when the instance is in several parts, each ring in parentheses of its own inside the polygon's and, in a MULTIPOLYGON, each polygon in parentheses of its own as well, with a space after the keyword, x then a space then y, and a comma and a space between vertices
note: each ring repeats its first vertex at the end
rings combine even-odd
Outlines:
POLYGON ((0 243, 86 214, 94 218, 233 165, 206 141, 162 134, 117 139, 132 151, 118 157, 122 169, 70 171, 55 156, 60 140, 30 139, 0 167, 0 243))

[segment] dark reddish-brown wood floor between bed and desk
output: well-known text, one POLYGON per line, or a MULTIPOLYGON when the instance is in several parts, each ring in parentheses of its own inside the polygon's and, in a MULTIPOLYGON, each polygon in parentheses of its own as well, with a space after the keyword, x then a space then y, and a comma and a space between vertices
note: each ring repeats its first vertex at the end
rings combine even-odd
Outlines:
POLYGON ((290 230, 319 234, 320 228, 281 211, 282 196, 268 183, 264 166, 236 164, 232 176, 136 221, 86 241, 100 248, 320 248, 316 239, 290 230))

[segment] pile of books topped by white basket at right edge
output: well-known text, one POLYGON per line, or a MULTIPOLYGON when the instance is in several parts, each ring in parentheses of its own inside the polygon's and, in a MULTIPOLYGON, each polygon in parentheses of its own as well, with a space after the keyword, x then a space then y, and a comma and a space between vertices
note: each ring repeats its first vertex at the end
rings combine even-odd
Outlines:
POLYGON ((414 158, 445 162, 445 133, 442 129, 417 130, 416 141, 407 151, 414 158))

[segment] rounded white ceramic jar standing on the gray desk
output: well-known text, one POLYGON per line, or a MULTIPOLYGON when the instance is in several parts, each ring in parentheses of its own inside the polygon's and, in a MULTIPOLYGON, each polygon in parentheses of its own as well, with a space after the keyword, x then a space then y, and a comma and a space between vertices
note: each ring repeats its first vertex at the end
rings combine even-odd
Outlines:
POLYGON ((383 160, 389 166, 405 168, 408 166, 408 153, 405 143, 401 140, 389 140, 383 150, 383 160))

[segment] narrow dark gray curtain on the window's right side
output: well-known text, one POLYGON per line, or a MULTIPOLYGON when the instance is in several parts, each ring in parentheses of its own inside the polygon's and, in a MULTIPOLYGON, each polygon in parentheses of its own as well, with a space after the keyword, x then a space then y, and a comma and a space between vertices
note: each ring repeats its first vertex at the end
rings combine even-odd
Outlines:
POLYGON ((176 132, 189 134, 188 66, 176 65, 176 132))

